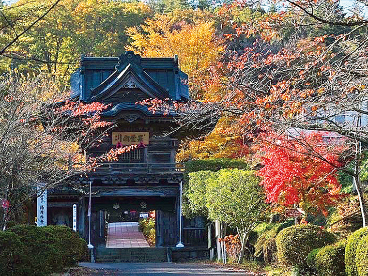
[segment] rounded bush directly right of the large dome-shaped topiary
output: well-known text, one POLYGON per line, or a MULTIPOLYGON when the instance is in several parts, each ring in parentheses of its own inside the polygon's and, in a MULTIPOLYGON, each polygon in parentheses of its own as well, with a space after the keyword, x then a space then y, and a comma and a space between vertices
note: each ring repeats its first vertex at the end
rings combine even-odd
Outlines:
POLYGON ((318 276, 346 276, 345 273, 346 241, 321 248, 316 254, 318 276))

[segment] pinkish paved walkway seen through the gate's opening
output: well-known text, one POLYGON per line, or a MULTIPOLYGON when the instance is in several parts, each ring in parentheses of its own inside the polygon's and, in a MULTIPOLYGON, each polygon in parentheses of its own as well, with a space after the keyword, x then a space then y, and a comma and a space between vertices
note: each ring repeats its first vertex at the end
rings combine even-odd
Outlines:
POLYGON ((138 222, 110 222, 107 229, 106 248, 142 248, 150 247, 138 222))

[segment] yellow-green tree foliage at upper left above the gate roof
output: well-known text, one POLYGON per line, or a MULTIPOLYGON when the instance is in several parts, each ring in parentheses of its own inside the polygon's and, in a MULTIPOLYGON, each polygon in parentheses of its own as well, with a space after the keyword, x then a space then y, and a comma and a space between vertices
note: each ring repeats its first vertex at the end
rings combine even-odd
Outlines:
MULTIPOLYGON (((49 0, 23 2, 6 11, 9 18, 20 17, 13 24, 19 32, 50 5, 49 0)), ((125 30, 143 24, 149 15, 150 8, 138 1, 62 0, 9 48, 15 59, 0 58, 0 70, 11 65, 24 72, 46 71, 67 83, 81 54, 122 54, 128 44, 125 30)), ((13 36, 12 31, 5 32, 0 46, 13 36)))

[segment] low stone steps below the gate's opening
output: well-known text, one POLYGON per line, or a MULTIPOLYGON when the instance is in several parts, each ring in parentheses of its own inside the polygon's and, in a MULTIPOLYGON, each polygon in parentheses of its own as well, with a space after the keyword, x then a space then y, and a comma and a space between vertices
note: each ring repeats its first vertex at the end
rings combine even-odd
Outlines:
POLYGON ((103 248, 96 249, 96 262, 167 262, 166 248, 103 248))

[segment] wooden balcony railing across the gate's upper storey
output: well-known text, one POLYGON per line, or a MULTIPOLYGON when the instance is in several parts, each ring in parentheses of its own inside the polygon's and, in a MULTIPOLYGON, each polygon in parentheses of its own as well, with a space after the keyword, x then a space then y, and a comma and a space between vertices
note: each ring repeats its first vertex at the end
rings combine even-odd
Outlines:
POLYGON ((123 173, 159 173, 159 172, 176 172, 184 171, 184 163, 121 163, 106 162, 99 163, 96 171, 119 171, 123 173))

